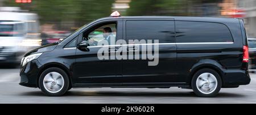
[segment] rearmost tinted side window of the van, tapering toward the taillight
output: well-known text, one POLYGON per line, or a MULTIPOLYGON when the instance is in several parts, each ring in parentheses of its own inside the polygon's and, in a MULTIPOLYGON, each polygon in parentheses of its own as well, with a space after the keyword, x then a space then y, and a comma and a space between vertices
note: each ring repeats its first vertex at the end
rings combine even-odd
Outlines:
POLYGON ((176 21, 176 42, 233 42, 224 24, 176 21))

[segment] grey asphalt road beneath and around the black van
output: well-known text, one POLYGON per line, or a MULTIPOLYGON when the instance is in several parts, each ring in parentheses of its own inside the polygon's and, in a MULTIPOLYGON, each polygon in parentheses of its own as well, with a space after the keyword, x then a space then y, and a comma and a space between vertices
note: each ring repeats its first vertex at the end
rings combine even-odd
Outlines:
POLYGON ((222 88, 211 98, 181 88, 75 88, 61 97, 45 96, 38 88, 19 86, 19 69, 0 69, 0 103, 256 103, 256 74, 251 83, 222 88))

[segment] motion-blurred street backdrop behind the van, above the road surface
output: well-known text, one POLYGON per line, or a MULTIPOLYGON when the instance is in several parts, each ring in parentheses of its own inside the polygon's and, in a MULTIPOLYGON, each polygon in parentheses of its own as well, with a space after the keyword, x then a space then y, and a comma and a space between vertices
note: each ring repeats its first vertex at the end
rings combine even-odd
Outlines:
POLYGON ((18 63, 27 50, 64 39, 113 11, 243 18, 248 37, 256 36, 256 0, 0 0, 0 7, 0 63, 18 63))

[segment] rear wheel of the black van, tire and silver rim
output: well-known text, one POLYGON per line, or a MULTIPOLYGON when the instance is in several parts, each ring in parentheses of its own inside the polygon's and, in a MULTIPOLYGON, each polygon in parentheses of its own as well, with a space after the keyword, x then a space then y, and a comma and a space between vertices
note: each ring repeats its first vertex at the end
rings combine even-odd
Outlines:
POLYGON ((212 69, 201 69, 193 75, 191 86, 197 96, 214 97, 221 89, 221 77, 212 69))

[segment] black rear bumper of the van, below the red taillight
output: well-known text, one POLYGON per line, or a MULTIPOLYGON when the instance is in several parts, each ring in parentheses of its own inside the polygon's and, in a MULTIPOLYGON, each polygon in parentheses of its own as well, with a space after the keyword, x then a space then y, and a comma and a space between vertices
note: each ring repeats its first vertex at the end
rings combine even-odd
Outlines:
POLYGON ((247 70, 226 70, 222 76, 222 87, 238 87, 251 81, 247 70))

